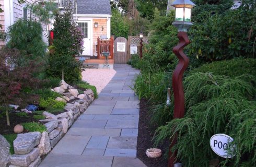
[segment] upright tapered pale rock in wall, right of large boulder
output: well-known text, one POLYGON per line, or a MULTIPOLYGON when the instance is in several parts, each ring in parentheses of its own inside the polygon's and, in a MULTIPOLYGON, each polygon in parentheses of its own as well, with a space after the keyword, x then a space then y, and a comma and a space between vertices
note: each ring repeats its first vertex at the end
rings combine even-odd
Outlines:
POLYGON ((40 156, 46 155, 51 151, 50 139, 47 132, 42 133, 40 143, 38 145, 40 156))

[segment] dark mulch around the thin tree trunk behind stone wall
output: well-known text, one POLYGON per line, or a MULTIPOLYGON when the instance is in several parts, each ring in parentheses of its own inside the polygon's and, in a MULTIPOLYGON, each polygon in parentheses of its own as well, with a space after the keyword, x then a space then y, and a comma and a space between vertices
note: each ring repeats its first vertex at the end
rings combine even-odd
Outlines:
POLYGON ((10 126, 7 126, 6 117, 3 116, 2 118, 0 118, 0 134, 14 134, 14 126, 16 126, 17 124, 26 122, 38 122, 38 120, 33 118, 33 114, 28 113, 28 116, 29 117, 19 117, 15 113, 9 113, 10 126))

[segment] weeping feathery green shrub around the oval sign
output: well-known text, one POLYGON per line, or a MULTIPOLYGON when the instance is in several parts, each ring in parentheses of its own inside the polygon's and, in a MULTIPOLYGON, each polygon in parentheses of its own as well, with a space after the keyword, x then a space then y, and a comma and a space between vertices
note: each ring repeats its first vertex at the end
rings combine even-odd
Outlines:
POLYGON ((155 145, 177 133, 178 159, 184 166, 208 166, 219 159, 220 166, 256 163, 256 80, 251 75, 235 78, 194 73, 184 79, 185 116, 156 130, 155 145), (210 147, 215 134, 234 138, 236 156, 222 159, 210 147))

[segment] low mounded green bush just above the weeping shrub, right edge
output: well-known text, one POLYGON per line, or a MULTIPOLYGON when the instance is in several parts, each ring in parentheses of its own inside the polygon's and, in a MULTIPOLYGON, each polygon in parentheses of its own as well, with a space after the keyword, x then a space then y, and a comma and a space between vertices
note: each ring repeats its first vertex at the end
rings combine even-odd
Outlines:
POLYGON ((256 59, 253 58, 235 58, 228 61, 218 61, 205 64, 200 68, 196 68, 190 73, 213 73, 214 75, 225 75, 229 77, 237 77, 242 74, 250 74, 256 76, 256 59))

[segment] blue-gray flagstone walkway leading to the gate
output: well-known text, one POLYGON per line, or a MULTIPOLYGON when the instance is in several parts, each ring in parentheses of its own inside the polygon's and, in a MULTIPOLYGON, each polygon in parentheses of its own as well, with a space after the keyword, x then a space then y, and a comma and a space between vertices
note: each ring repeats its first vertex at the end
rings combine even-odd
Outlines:
POLYGON ((117 74, 40 167, 146 167, 136 158, 139 100, 131 86, 138 70, 114 65, 117 74))

